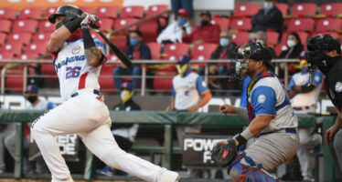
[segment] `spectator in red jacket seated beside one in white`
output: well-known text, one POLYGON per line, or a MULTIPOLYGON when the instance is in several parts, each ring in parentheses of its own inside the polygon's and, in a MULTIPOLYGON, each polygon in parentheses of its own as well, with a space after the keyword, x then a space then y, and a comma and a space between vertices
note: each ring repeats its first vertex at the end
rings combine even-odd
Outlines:
POLYGON ((210 23, 211 13, 209 11, 203 11, 200 14, 200 25, 196 26, 192 32, 183 38, 183 42, 198 45, 202 43, 214 43, 219 42, 220 27, 219 25, 213 25, 210 23))

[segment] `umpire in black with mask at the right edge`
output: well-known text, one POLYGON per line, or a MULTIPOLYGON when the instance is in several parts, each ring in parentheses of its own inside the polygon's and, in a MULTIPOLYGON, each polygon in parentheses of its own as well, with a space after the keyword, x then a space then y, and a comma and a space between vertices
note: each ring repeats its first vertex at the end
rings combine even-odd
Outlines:
MULTIPOLYGON (((315 36, 307 41, 308 61, 326 76, 326 94, 337 111, 335 124, 326 130, 326 144, 336 150, 339 170, 342 167, 342 57, 339 41, 330 35, 315 36)), ((342 170, 340 171, 342 173, 342 170)))

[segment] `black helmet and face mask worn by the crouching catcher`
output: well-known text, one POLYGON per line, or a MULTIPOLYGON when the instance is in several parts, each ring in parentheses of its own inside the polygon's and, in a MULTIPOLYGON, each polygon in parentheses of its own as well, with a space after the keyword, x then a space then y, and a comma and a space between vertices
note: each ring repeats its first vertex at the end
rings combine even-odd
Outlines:
POLYGON ((251 43, 250 45, 240 45, 233 53, 235 62, 235 73, 232 73, 230 78, 244 79, 247 75, 247 69, 250 59, 259 61, 262 60, 264 66, 268 69, 273 69, 271 63, 272 55, 268 48, 264 47, 261 43, 251 43))

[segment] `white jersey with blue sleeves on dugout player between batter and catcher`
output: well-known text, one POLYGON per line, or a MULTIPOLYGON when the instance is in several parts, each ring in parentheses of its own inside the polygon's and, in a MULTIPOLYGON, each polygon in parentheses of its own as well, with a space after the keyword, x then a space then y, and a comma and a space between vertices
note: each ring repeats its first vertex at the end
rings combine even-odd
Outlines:
POLYGON ((188 107, 196 106, 200 95, 208 90, 203 78, 191 71, 187 72, 186 76, 175 76, 172 86, 176 110, 186 110, 188 107))

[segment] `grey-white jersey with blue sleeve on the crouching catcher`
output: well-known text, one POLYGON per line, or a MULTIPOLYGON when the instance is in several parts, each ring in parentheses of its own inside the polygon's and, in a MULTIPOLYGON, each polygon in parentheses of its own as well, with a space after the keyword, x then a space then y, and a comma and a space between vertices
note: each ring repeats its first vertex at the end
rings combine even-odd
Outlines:
POLYGON ((297 117, 283 84, 277 77, 261 78, 251 89, 248 98, 253 107, 253 116, 275 116, 262 133, 298 126, 297 117))

